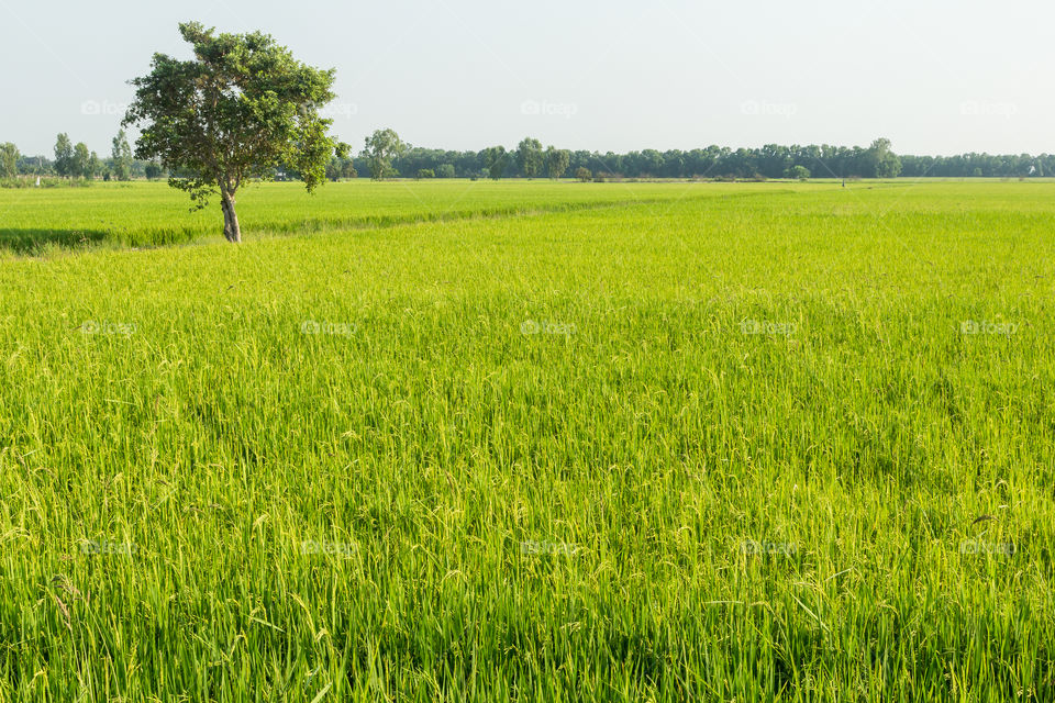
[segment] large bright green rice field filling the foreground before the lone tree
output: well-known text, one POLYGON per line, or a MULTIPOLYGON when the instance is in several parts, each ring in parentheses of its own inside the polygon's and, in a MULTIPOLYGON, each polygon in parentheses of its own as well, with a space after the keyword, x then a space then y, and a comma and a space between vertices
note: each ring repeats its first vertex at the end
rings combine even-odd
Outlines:
POLYGON ((484 186, 0 255, 0 700, 1055 699, 1055 185, 484 186))

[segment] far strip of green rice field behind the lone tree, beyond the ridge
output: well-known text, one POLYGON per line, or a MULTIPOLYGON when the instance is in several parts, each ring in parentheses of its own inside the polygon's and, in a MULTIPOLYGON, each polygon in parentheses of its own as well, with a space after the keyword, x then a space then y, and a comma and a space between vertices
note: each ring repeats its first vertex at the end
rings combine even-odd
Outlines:
MULTIPOLYGON (((123 248, 222 238, 218 199, 203 211, 190 212, 187 196, 164 182, 60 190, 0 190, 0 248, 38 255, 64 247, 123 248)), ((243 230, 259 236, 675 201, 699 192, 732 189, 688 182, 356 180, 327 183, 314 194, 293 183, 263 183, 243 189, 237 200, 243 230)))

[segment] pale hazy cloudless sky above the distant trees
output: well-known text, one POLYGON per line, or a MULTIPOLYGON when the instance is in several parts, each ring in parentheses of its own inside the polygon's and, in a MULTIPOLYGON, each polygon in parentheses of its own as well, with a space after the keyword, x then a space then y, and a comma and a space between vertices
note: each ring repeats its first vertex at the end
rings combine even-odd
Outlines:
POLYGON ((628 152, 867 145, 1055 152, 1055 5, 1004 0, 0 0, 0 142, 109 155, 177 23, 262 30, 336 68, 334 133, 628 152))

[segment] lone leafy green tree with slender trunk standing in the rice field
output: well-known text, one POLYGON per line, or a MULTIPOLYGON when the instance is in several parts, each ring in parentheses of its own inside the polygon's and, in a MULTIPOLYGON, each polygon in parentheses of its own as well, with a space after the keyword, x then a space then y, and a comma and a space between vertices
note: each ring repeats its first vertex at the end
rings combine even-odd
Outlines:
POLYGON ((333 69, 292 57, 270 36, 215 34, 198 22, 179 25, 193 60, 155 54, 151 74, 132 80, 135 99, 125 126, 145 123, 135 155, 181 174, 170 178, 197 208, 220 193, 223 235, 241 242, 235 214, 238 188, 267 178, 278 166, 298 171, 312 192, 326 164, 343 152, 330 138, 331 120, 319 109, 333 100, 333 69))

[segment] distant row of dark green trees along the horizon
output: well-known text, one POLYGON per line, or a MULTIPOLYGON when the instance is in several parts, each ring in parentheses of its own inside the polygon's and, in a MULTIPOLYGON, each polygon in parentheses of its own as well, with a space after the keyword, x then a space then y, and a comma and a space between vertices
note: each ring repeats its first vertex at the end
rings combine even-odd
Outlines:
MULTIPOLYGON (((84 143, 56 138, 54 156, 23 156, 14 144, 0 144, 0 178, 54 176, 69 179, 129 180, 176 176, 153 161, 135 159, 124 131, 113 138, 111 154, 100 158, 84 143)), ((300 179, 293 165, 274 169, 278 180, 300 179)), ((711 145, 691 150, 643 149, 617 154, 544 147, 526 137, 515 148, 490 146, 480 150, 448 150, 412 146, 393 130, 367 137, 357 156, 333 157, 325 167, 330 180, 386 178, 708 178, 717 180, 768 178, 1028 178, 1055 176, 1055 155, 960 154, 956 156, 898 155, 890 142, 868 147, 823 145, 758 148, 711 145)))

